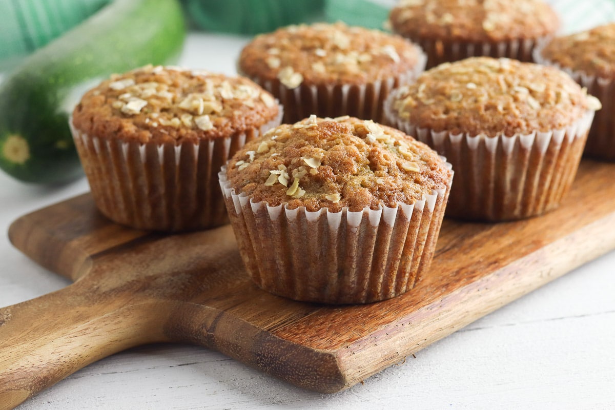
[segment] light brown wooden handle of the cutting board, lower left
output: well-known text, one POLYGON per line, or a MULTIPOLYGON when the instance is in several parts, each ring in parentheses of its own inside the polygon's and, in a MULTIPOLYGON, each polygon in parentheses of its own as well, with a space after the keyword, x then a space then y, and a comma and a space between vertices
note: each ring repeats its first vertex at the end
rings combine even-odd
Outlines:
POLYGON ((54 293, 0 309, 0 410, 15 408, 93 361, 165 341, 156 326, 157 309, 147 305, 120 290, 102 293, 100 283, 86 275, 54 293))

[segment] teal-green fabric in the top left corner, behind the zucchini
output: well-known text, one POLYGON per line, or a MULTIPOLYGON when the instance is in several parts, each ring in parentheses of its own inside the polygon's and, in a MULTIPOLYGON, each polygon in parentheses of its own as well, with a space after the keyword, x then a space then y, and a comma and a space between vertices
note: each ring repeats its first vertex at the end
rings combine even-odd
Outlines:
POLYGON ((0 1, 0 69, 46 45, 109 0, 0 1))

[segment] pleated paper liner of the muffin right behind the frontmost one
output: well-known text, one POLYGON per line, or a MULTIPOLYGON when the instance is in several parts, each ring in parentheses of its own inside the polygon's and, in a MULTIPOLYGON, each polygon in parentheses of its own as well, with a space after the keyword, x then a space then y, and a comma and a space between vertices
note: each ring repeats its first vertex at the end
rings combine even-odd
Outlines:
POLYGON ((386 123, 453 164, 446 216, 478 221, 522 219, 557 208, 574 181, 593 119, 593 111, 587 111, 569 127, 528 135, 452 134, 399 119, 393 97, 385 105, 386 123))

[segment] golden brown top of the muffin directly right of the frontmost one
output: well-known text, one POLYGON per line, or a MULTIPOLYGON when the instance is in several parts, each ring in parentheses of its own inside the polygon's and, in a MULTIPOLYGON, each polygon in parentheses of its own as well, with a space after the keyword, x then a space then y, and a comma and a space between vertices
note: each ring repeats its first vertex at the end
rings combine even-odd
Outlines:
POLYGON ((561 129, 600 109, 563 71, 473 57, 432 68, 392 93, 392 108, 419 128, 486 136, 561 129))

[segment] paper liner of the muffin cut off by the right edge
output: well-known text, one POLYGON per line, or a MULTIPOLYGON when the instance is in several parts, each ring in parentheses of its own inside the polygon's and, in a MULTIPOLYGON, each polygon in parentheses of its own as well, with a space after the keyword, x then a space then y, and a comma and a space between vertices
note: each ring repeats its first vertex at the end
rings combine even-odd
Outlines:
POLYGON ((602 108, 598 110, 589 130, 584 153, 595 159, 615 161, 615 81, 609 78, 590 76, 583 71, 574 71, 563 67, 555 61, 542 57, 542 49, 547 43, 540 44, 534 50, 534 62, 554 66, 573 77, 587 93, 598 98, 602 108))

